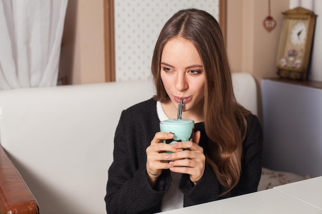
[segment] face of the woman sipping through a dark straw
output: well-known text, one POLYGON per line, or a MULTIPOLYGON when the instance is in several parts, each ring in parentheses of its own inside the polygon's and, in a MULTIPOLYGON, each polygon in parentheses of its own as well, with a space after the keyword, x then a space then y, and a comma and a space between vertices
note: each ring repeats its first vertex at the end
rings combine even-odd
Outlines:
POLYGON ((192 42, 182 37, 169 40, 163 49, 160 66, 161 79, 174 109, 184 99, 183 111, 200 115, 204 105, 205 74, 192 42))

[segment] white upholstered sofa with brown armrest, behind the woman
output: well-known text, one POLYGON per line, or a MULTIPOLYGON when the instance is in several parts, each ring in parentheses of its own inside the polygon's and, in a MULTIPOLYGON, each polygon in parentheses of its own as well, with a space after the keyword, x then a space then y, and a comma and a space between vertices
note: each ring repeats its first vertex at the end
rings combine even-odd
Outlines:
MULTIPOLYGON (((233 82, 238 102, 257 114, 253 76, 235 73, 233 82)), ((31 213, 39 205, 47 214, 106 213, 105 186, 120 113, 153 94, 152 81, 0 91, 0 149, 5 150, 0 152, 0 212, 31 213), (5 164, 10 162, 6 154, 19 172, 5 164), (28 193, 23 181, 38 202, 27 200, 27 209, 19 204, 28 199, 19 189, 28 193)))

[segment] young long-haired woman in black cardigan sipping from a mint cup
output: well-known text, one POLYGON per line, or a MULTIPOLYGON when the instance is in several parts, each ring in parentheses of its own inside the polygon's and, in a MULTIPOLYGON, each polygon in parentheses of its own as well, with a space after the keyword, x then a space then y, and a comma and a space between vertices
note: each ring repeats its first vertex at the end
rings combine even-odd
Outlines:
POLYGON ((220 27, 209 13, 175 13, 152 59, 157 94, 121 114, 109 169, 108 213, 154 213, 257 191, 262 129, 240 106, 220 27), (159 122, 195 122, 193 142, 161 143, 159 122), (189 148, 189 150, 183 150, 189 148), (165 153, 163 151, 172 151, 165 153))

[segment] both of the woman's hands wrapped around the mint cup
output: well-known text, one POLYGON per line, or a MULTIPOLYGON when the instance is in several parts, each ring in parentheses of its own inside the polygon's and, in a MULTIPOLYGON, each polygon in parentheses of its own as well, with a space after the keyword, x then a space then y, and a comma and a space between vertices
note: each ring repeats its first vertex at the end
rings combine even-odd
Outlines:
POLYGON ((194 133, 193 142, 178 142, 172 145, 162 140, 172 139, 173 134, 157 132, 147 148, 147 177, 152 187, 162 173, 162 169, 190 174, 193 183, 198 182, 205 171, 205 155, 200 147, 200 131, 194 133), (164 151, 172 151, 169 154, 164 151), (184 167, 183 167, 184 166, 184 167))

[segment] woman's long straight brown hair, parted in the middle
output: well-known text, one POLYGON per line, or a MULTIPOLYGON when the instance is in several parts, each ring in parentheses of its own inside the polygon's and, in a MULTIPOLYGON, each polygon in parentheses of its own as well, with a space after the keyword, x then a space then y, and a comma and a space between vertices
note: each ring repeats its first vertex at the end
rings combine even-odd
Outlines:
POLYGON ((225 194, 237 185, 240 178, 242 141, 247 126, 245 115, 249 111, 236 102, 220 26, 212 15, 198 9, 178 11, 159 34, 151 65, 157 91, 155 99, 169 99, 160 78, 160 60, 163 48, 174 36, 191 41, 203 62, 204 124, 209 138, 206 163, 227 189, 223 192, 225 194))

